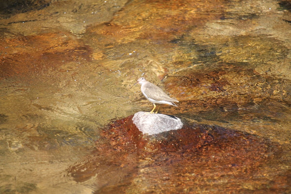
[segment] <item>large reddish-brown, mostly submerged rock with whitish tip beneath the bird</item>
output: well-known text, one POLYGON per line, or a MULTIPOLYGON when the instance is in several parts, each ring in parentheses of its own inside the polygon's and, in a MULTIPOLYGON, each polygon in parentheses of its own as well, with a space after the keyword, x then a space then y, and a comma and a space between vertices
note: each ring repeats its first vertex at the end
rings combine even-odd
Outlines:
POLYGON ((74 180, 91 182, 96 193, 195 193, 196 189, 245 193, 247 189, 242 183, 253 187, 269 184, 268 188, 258 187, 260 191, 278 186, 266 181, 268 176, 276 176, 273 169, 277 164, 273 159, 280 150, 269 140, 242 131, 186 122, 181 129, 172 130, 167 130, 164 122, 155 122, 154 130, 141 129, 142 132, 139 128, 145 125, 143 117, 164 118, 166 123, 180 120, 168 115, 142 114, 105 127, 96 142, 97 151, 68 169, 74 180), (157 126, 163 132, 149 135, 157 132, 157 126), (263 174, 266 179, 256 179, 263 174), (225 188, 223 183, 227 181, 232 184, 225 188))

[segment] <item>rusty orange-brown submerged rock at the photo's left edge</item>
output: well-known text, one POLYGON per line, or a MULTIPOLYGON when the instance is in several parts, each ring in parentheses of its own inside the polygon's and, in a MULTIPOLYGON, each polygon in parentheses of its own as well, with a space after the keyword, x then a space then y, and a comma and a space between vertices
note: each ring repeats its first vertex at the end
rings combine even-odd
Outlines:
MULTIPOLYGON (((53 30, 52 30, 53 31, 53 30)), ((11 35, 0 40, 0 79, 61 69, 63 61, 90 60, 91 48, 67 32, 11 35)))

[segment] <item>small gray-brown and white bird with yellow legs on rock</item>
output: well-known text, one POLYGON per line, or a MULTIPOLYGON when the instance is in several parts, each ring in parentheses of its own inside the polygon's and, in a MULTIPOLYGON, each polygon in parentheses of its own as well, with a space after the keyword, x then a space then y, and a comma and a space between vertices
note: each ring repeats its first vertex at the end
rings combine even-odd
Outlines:
MULTIPOLYGON (((150 111, 150 113, 153 113, 153 111, 155 110, 155 104, 169 104, 172 106, 177 106, 174 102, 179 102, 178 100, 170 98, 161 88, 159 88, 155 84, 150 83, 144 77, 140 77, 139 79, 137 79, 137 82, 134 85, 136 85, 137 83, 141 85, 141 92, 143 93, 145 98, 152 102, 152 104, 154 104, 154 108, 152 109, 152 111, 150 111)), ((158 113, 159 107, 160 105, 158 105, 158 109, 155 113, 158 113)))

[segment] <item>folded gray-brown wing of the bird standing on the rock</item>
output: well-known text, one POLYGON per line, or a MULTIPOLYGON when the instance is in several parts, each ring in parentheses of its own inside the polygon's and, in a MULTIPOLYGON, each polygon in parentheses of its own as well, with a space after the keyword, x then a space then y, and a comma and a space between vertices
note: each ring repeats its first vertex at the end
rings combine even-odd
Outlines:
POLYGON ((165 94, 165 92, 161 88, 159 88, 158 86, 150 82, 145 85, 144 92, 147 94, 148 98, 151 98, 157 101, 165 100, 165 101, 170 101, 170 102, 179 102, 178 100, 170 98, 168 95, 165 94))

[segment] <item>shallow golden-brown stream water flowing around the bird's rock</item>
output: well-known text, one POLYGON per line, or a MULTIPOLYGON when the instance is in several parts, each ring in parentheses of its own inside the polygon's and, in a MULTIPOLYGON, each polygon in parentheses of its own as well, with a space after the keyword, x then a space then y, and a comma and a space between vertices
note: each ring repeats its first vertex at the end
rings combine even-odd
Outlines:
POLYGON ((279 143, 274 171, 290 172, 290 1, 0 5, 0 193, 96 191, 66 169, 111 120, 152 108, 140 76, 180 100, 161 113, 279 143))

